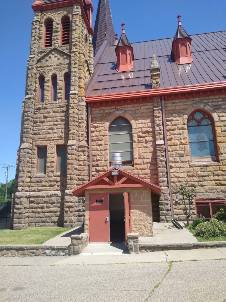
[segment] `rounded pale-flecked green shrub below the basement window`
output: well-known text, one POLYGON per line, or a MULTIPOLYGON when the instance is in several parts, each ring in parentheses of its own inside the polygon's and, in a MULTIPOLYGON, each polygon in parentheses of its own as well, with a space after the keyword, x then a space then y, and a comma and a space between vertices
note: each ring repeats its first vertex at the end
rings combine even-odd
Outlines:
POLYGON ((199 223, 195 230, 195 236, 200 236, 205 239, 226 236, 226 223, 216 219, 199 223))

